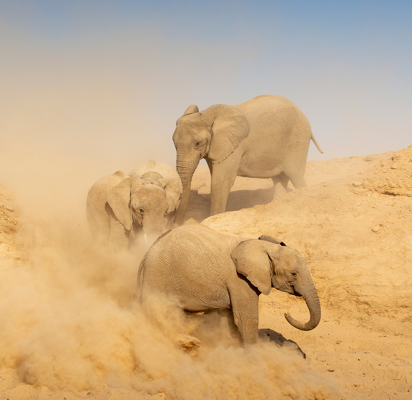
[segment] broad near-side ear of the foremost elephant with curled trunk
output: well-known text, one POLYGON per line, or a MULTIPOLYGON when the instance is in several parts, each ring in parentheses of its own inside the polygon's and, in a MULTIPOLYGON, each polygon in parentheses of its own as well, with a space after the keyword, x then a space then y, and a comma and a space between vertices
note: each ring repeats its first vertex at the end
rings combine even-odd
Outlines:
POLYGON ((261 240, 245 240, 230 254, 236 271, 244 275, 258 290, 268 295, 272 288, 272 264, 261 240))

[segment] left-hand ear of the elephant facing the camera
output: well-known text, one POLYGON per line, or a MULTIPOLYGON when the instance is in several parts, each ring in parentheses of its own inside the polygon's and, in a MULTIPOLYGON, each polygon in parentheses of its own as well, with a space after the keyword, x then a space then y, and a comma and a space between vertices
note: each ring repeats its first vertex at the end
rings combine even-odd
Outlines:
POLYGON ((129 207, 131 185, 135 178, 126 178, 119 182, 107 195, 107 202, 120 223, 131 230, 132 212, 129 207))

